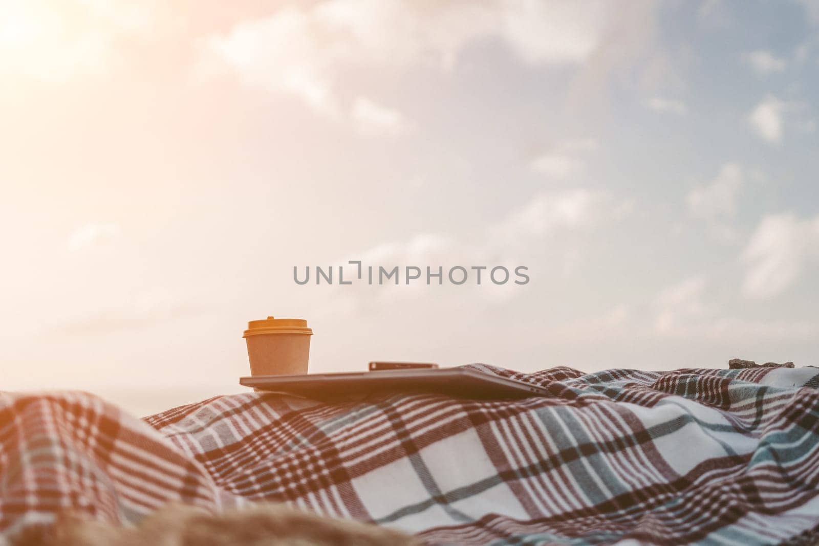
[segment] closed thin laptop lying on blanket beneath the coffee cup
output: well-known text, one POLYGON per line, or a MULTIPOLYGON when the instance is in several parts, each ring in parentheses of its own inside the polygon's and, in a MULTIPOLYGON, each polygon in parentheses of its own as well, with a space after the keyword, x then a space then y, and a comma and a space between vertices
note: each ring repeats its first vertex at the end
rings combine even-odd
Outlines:
POLYGON ((383 392, 437 394, 464 399, 519 399, 549 395, 539 386, 470 368, 254 376, 240 377, 239 383, 257 390, 319 399, 383 392))

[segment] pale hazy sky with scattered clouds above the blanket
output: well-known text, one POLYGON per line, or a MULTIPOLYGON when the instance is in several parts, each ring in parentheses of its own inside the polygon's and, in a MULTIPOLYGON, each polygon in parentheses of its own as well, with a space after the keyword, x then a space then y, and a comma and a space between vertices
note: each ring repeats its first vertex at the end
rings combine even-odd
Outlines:
POLYGON ((819 365, 817 97, 811 0, 3 0, 0 388, 241 392, 268 315, 312 372, 819 365), (349 260, 529 282, 293 280, 349 260))

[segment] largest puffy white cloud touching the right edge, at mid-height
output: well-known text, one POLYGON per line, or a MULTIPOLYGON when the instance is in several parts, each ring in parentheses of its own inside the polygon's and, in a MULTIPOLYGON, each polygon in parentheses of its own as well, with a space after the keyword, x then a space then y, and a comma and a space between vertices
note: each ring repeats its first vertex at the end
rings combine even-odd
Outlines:
POLYGON ((819 215, 800 219, 794 214, 771 214, 762 219, 742 258, 748 270, 745 296, 770 298, 785 291, 819 255, 819 215))

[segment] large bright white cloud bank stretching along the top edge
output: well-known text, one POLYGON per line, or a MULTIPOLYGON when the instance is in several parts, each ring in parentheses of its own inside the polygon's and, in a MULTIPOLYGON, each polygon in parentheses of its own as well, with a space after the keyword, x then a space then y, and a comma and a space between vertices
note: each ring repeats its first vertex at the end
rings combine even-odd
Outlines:
POLYGON ((206 38, 207 61, 231 67, 248 85, 301 97, 337 113, 343 70, 457 61, 469 44, 496 38, 520 61, 576 64, 600 42, 608 2, 410 2, 324 0, 286 7, 206 38))

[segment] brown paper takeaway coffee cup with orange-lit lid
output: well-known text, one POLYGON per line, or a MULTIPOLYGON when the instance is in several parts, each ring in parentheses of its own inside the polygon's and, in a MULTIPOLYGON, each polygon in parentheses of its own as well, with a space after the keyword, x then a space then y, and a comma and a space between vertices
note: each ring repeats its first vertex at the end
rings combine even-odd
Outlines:
POLYGON ((251 320, 242 336, 247 341, 251 376, 307 373, 312 335, 301 318, 251 320))

